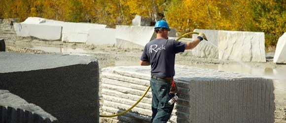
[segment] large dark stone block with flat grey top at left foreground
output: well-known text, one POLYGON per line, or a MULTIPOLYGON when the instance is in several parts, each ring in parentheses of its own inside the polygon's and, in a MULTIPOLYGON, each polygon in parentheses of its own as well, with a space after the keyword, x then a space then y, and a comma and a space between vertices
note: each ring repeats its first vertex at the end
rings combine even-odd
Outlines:
POLYGON ((99 122, 99 66, 94 57, 0 55, 0 90, 40 106, 60 123, 99 122))

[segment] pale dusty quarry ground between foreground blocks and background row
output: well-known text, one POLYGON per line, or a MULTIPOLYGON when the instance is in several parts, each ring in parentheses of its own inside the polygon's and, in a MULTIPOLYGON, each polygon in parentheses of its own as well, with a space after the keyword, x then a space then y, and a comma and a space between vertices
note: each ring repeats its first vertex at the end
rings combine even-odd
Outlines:
MULTIPOLYGON (((100 69, 108 66, 139 65, 143 51, 139 49, 119 49, 114 45, 85 45, 83 43, 19 37, 16 36, 15 31, 10 29, 0 29, 0 38, 5 39, 7 52, 93 56, 99 61, 100 69)), ((286 123, 286 64, 274 64, 272 60, 268 60, 266 63, 218 61, 217 59, 194 58, 183 53, 176 55, 176 64, 248 73, 273 79, 276 102, 275 123, 286 123)), ((101 92, 99 95, 101 97, 101 92)), ((101 100, 102 102, 103 100, 101 100)), ((101 123, 105 123, 105 121, 101 120, 101 123)))

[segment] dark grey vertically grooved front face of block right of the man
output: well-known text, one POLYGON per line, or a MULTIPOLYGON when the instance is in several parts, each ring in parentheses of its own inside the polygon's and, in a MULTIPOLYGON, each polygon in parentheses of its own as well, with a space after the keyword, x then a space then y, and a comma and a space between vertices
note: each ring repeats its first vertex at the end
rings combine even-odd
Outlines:
POLYGON ((201 78, 182 81, 189 82, 191 123, 274 123, 272 80, 201 78))

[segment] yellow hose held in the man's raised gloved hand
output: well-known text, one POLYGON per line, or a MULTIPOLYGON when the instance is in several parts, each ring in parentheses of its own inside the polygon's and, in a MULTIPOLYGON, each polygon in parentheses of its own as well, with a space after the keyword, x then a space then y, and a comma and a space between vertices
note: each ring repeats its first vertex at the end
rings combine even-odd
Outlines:
MULTIPOLYGON (((182 37, 188 35, 188 34, 199 34, 198 32, 188 32, 188 33, 185 33, 183 34, 182 36, 180 36, 177 40, 181 39, 182 37)), ((120 112, 118 114, 115 114, 115 115, 99 115, 100 117, 106 117, 106 118, 111 118, 111 117, 116 117, 116 116, 120 116, 120 115, 123 115, 125 114, 126 112, 129 112, 131 109, 133 109, 142 99, 143 97, 147 94, 147 92, 149 91, 150 89, 150 85, 148 86, 147 90, 143 93, 143 95, 140 97, 140 99, 134 103, 129 109, 123 111, 123 112, 120 112)))

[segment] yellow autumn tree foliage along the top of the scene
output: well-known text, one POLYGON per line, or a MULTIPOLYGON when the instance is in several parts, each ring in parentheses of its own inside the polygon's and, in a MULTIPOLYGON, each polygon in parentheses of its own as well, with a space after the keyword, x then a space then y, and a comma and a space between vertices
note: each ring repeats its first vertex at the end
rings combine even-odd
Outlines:
POLYGON ((36 16, 70 22, 130 25, 135 15, 194 29, 263 31, 266 46, 286 32, 286 0, 0 0, 0 18, 36 16))

